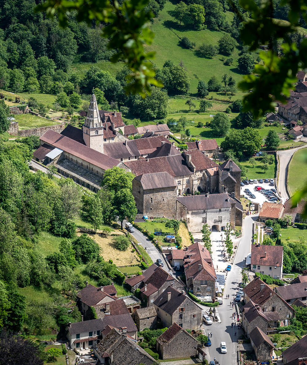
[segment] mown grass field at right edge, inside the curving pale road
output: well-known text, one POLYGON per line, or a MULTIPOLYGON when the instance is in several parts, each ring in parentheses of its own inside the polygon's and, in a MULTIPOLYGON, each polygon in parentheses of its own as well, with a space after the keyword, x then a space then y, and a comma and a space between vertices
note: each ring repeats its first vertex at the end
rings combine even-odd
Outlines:
POLYGON ((307 183, 307 148, 298 150, 292 157, 288 168, 288 191, 292 196, 307 183))

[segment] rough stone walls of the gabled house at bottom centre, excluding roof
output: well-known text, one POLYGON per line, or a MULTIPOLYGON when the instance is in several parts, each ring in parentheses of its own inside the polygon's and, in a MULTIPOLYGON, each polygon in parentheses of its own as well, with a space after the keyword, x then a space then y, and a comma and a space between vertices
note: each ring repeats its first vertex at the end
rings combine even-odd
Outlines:
POLYGON ((157 350, 162 359, 173 359, 180 357, 195 356, 197 349, 197 340, 186 331, 180 331, 164 346, 157 342, 157 350))

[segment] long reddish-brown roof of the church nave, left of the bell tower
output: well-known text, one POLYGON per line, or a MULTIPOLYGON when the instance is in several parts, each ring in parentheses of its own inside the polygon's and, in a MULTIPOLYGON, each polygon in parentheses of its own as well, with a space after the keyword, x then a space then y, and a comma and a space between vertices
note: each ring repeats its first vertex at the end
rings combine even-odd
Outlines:
POLYGON ((117 166, 119 163, 114 158, 95 151, 90 147, 74 141, 71 138, 65 137, 60 133, 52 131, 51 129, 48 129, 48 131, 46 131, 45 134, 40 137, 40 140, 76 157, 82 158, 83 160, 89 162, 90 164, 93 164, 94 166, 98 166, 103 170, 107 170, 114 166, 117 166))

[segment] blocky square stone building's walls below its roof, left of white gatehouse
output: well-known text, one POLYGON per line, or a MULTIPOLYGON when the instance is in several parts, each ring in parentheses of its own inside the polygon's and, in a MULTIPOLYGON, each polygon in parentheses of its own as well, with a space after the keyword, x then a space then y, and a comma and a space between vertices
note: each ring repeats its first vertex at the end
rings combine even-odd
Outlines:
POLYGON ((132 194, 141 214, 169 219, 176 216, 177 187, 144 190, 141 182, 134 179, 132 194))

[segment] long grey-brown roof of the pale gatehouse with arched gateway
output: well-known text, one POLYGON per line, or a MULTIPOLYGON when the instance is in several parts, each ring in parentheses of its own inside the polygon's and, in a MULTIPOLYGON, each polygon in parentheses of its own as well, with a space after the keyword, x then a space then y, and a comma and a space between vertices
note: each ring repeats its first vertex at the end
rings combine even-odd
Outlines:
POLYGON ((206 195, 191 195, 179 196, 177 200, 187 207, 187 211, 231 208, 231 203, 228 201, 228 194, 209 194, 206 195))

